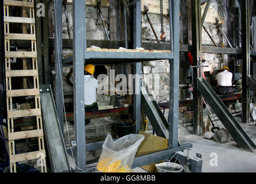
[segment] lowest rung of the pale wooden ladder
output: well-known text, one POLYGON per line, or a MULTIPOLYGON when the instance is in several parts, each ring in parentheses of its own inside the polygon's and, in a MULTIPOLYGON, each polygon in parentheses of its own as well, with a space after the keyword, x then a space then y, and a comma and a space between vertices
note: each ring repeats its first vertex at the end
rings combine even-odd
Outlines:
POLYGON ((17 154, 17 155, 10 155, 10 163, 22 162, 25 160, 34 160, 39 158, 46 157, 46 151, 35 151, 35 152, 28 152, 25 154, 17 154))

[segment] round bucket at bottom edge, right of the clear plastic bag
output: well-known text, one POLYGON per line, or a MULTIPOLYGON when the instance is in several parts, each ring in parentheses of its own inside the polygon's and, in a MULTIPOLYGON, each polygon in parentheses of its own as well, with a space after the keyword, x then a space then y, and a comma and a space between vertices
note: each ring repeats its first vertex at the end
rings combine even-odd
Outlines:
POLYGON ((182 173, 183 167, 180 164, 164 162, 156 164, 158 173, 182 173))

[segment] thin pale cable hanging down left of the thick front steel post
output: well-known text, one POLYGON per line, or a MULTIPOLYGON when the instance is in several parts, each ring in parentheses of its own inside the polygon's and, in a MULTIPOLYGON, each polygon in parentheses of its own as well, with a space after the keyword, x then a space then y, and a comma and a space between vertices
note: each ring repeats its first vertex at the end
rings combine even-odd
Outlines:
MULTIPOLYGON (((55 3, 55 0, 54 0, 54 3, 55 3)), ((56 26, 56 23, 57 23, 57 16, 56 16, 56 6, 54 5, 54 11, 55 11, 55 26, 56 26)), ((56 28, 58 29, 58 27, 56 26, 56 28)), ((55 33, 56 34, 56 33, 55 33)), ((57 47, 59 47, 59 40, 58 40, 58 36, 56 36, 57 40, 57 47)), ((59 55, 58 55, 58 60, 60 60, 59 58, 59 55)), ((61 71, 61 66, 59 65, 59 71, 61 71)), ((67 128, 67 139, 69 141, 69 147, 70 147, 70 150, 71 150, 71 155, 74 159, 74 154, 73 154, 73 150, 72 150, 72 147, 70 145, 71 141, 70 141, 70 135, 69 135, 69 129, 68 129, 68 126, 67 126, 67 117, 66 117, 66 108, 65 108, 65 102, 64 102, 64 93, 63 93, 63 81, 62 79, 60 80, 61 81, 61 90, 62 90, 62 101, 63 101, 63 110, 64 110, 64 114, 65 114, 65 122, 66 122, 66 128, 67 128)), ((67 154, 67 150, 66 151, 66 154, 67 154)), ((75 159, 74 159, 75 160, 75 159)), ((81 168, 78 168, 77 167, 77 164, 76 162, 74 162, 76 168, 80 171, 83 171, 81 168)))

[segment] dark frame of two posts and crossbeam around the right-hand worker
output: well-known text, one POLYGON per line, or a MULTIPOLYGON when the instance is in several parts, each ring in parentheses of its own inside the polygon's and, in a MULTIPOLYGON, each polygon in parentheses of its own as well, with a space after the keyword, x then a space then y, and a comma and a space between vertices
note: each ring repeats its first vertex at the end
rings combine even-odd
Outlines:
MULTIPOLYGON (((207 6, 209 6, 209 2, 207 6)), ((243 122, 249 121, 250 113, 250 89, 254 90, 255 87, 255 76, 250 75, 250 58, 255 57, 255 51, 250 51, 250 1, 241 1, 241 12, 242 12, 242 48, 225 48, 225 51, 218 47, 211 47, 206 49, 202 46, 202 22, 204 16, 207 14, 207 8, 204 11, 204 15, 201 16, 201 1, 193 0, 191 1, 191 11, 192 11, 192 31, 193 31, 193 45, 192 49, 189 51, 193 52, 193 65, 198 66, 198 63, 202 60, 202 52, 205 53, 227 53, 227 54, 237 54, 242 55, 243 60, 243 97, 242 97, 242 120, 243 122)), ((238 33, 239 34, 239 33, 238 33)), ((255 45, 254 45, 255 50, 255 45)), ((200 135, 202 133, 202 95, 198 92, 197 79, 202 77, 202 68, 194 68, 193 78, 194 78, 194 133, 200 135)), ((256 93, 256 92, 255 92, 256 93)))

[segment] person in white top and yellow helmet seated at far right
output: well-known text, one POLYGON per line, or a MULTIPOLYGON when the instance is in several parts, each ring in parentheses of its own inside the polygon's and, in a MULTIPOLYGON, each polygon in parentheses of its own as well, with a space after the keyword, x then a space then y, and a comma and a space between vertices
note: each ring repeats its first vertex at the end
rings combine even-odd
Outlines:
POLYGON ((223 67, 221 72, 215 77, 215 81, 217 81, 217 87, 214 86, 213 89, 217 94, 234 93, 234 89, 232 89, 232 78, 233 74, 229 72, 229 68, 223 67))

